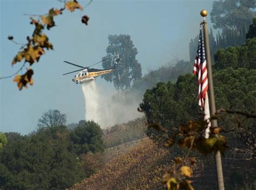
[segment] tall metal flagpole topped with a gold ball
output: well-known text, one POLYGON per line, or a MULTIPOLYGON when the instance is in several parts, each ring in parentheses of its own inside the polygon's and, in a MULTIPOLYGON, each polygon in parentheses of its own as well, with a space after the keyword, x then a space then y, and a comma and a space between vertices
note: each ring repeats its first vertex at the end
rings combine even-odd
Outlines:
MULTIPOLYGON (((213 80, 212 80, 212 65, 211 65, 211 55, 210 55, 210 46, 209 46, 209 39, 208 39, 208 29, 207 29, 207 22, 205 17, 207 16, 207 11, 202 10, 200 15, 204 17, 204 21, 201 23, 204 26, 204 41, 205 41, 205 53, 206 53, 206 65, 207 65, 207 78, 208 78, 208 90, 209 90, 209 104, 210 104, 210 116, 215 115, 216 108, 215 108, 215 99, 214 99, 214 90, 213 90, 213 80)), ((218 126, 217 120, 211 120, 211 126, 218 126)), ((215 154, 215 164, 216 164, 216 171, 217 171, 217 181, 218 181, 218 189, 224 190, 224 179, 223 179, 223 171, 221 165, 221 156, 220 151, 217 151, 215 154)))

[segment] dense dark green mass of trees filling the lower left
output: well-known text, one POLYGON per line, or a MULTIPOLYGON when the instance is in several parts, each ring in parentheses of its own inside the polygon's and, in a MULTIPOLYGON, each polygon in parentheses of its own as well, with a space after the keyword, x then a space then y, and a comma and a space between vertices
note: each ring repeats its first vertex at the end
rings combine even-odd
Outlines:
POLYGON ((91 151, 91 155, 104 150, 102 135, 99 125, 93 121, 80 121, 73 130, 64 125, 51 125, 29 136, 5 133, 6 145, 0 151, 0 188, 64 189, 72 186, 95 172, 88 165, 91 157, 86 153, 91 151))

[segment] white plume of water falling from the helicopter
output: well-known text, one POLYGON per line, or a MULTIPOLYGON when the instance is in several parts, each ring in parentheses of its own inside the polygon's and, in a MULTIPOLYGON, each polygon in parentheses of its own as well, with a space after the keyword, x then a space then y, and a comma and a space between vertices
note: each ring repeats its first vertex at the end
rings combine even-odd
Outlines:
POLYGON ((93 120, 106 128, 118 123, 127 122, 131 119, 143 116, 137 111, 138 101, 132 100, 129 103, 118 101, 120 95, 109 92, 106 88, 100 89, 96 81, 82 83, 82 90, 85 100, 85 120, 93 120))

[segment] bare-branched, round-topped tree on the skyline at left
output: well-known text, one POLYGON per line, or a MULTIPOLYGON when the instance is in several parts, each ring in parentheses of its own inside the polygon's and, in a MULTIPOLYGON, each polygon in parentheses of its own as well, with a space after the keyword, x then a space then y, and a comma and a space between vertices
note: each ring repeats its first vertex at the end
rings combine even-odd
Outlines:
POLYGON ((39 128, 52 126, 60 126, 66 124, 66 114, 61 114, 59 110, 49 109, 47 112, 44 112, 42 117, 38 119, 37 126, 39 128))

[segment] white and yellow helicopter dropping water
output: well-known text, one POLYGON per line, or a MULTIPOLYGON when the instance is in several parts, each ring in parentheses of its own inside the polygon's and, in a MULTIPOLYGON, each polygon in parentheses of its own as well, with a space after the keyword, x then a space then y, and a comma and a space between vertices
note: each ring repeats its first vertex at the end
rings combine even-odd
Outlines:
MULTIPOLYGON (((107 58, 107 59, 110 59, 110 58, 107 58)), ((102 61, 105 61, 107 59, 104 59, 102 61)), ((94 65, 99 64, 102 61, 99 61, 96 64, 93 64, 89 67, 83 67, 83 66, 80 66, 80 65, 73 64, 72 62, 69 62, 69 61, 64 61, 66 64, 70 64, 70 65, 73 65, 73 66, 76 66, 76 67, 80 67, 81 69, 78 69, 76 71, 72 71, 72 72, 69 72, 69 73, 65 73, 63 75, 67 75, 67 74, 70 74, 70 73, 75 73, 75 72, 81 71, 81 72, 77 73, 72 79, 72 81, 75 82, 76 84, 78 84, 78 83, 81 84, 83 82, 89 82, 89 81, 92 81, 92 80, 96 80, 96 78, 98 76, 110 73, 114 69, 116 69, 118 64, 119 64, 120 58, 119 58, 119 55, 117 55, 117 59, 114 60, 115 64, 112 68, 109 68, 109 69, 90 68, 94 65)))

